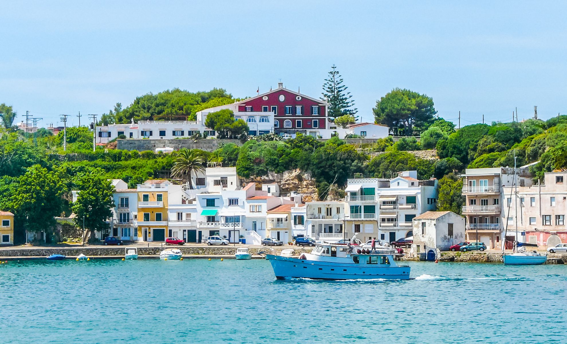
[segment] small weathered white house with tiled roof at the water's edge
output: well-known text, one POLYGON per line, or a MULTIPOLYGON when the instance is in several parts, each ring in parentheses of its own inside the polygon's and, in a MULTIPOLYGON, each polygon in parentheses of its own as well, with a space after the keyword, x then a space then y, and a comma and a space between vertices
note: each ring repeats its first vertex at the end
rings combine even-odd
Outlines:
POLYGON ((413 218, 414 257, 425 253, 428 260, 438 258, 438 251, 448 251, 465 240, 464 217, 451 211, 428 211, 413 218))

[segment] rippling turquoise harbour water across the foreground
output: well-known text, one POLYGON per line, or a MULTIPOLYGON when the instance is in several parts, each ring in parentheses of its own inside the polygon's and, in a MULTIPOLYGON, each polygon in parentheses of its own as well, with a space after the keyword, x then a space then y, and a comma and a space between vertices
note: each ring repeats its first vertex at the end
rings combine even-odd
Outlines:
POLYGON ((567 266, 411 266, 324 282, 264 260, 9 262, 0 343, 565 342, 567 266))

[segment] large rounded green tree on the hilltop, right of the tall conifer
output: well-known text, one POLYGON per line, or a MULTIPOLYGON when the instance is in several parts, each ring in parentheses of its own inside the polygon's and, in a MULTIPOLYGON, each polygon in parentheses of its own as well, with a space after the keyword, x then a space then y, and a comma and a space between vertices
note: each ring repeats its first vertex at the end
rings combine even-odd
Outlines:
POLYGON ((404 129, 407 136, 428 127, 434 122, 433 115, 437 114, 432 98, 397 88, 377 100, 373 111, 375 123, 404 129))

